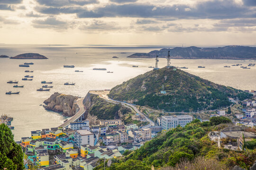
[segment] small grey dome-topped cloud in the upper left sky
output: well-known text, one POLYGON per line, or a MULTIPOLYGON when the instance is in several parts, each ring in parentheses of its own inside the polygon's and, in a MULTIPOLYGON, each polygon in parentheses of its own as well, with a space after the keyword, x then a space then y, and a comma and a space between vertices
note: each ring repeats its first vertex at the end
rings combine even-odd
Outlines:
POLYGON ((46 19, 36 19, 32 21, 32 26, 35 28, 49 28, 49 29, 67 29, 74 26, 72 23, 60 21, 55 17, 47 17, 46 19))

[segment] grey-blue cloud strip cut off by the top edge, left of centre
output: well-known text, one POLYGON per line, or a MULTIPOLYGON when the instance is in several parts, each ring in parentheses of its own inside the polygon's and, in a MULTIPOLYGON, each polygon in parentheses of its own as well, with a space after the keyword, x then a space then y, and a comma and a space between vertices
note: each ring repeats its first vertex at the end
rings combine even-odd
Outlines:
POLYGON ((41 5, 46 5, 49 7, 63 7, 69 5, 86 5, 99 3, 98 0, 37 0, 41 5))

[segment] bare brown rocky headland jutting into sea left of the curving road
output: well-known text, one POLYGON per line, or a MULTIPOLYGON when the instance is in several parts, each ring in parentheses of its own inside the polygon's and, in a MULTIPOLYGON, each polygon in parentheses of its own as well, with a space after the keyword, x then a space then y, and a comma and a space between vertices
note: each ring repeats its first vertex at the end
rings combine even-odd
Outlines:
POLYGON ((77 100, 76 96, 66 95, 55 92, 48 99, 44 101, 47 110, 63 112, 64 116, 72 117, 78 107, 74 101, 77 100))

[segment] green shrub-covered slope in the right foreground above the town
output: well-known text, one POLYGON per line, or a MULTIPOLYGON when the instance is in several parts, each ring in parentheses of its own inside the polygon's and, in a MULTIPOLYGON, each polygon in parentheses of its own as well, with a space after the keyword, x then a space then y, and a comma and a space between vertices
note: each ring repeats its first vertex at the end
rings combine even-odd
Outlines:
MULTIPOLYGON (((219 148, 207 136, 209 131, 220 130, 230 123, 225 117, 213 117, 207 122, 195 119, 185 127, 163 131, 140 149, 126 153, 125 158, 112 159, 112 165, 106 170, 132 170, 134 167, 151 170, 152 165, 155 170, 161 167, 165 167, 163 170, 230 170, 235 165, 248 170, 255 162, 256 150, 242 152, 219 148)), ((103 169, 101 162, 95 170, 103 169)))

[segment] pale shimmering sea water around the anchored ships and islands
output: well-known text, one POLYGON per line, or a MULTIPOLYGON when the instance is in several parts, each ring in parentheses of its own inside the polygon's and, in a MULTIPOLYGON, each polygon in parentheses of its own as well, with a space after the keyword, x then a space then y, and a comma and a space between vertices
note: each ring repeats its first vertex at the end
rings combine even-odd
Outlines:
MULTIPOLYGON (((24 82, 22 77, 26 68, 19 68, 29 59, 14 60, 0 59, 0 107, 2 112, 13 117, 12 125, 15 140, 30 136, 30 131, 57 127, 63 123, 65 117, 61 114, 45 110, 40 104, 54 92, 85 97, 90 90, 111 89, 132 77, 143 74, 155 65, 155 59, 127 58, 135 52, 148 52, 160 50, 166 46, 18 46, 0 45, 0 54, 15 56, 26 52, 35 52, 46 56, 46 60, 33 60, 34 70, 32 82, 24 82), (126 52, 126 53, 121 53, 126 52), (14 54, 15 53, 15 54, 14 54), (112 58, 117 56, 119 58, 112 58), (75 65, 75 68, 63 68, 63 65, 75 65), (133 68, 138 65, 138 68, 133 68), (107 68, 106 71, 92 70, 92 68, 107 68), (83 72, 74 72, 74 70, 83 72), (113 74, 107 73, 113 71, 113 74), (126 73, 126 74, 123 74, 126 73), (7 76, 8 75, 8 76, 7 76), (7 84, 9 80, 17 80, 24 85, 19 95, 6 95, 5 92, 14 89, 7 84), (53 81, 54 88, 50 92, 37 92, 41 81, 53 81), (65 82, 74 82, 74 86, 64 86, 65 82)), ((225 65, 251 63, 249 60, 227 59, 171 59, 172 65, 188 67, 184 70, 196 76, 210 80, 214 83, 227 85, 241 90, 256 90, 256 68, 241 69, 240 67, 224 68, 225 65), (199 65, 205 68, 198 68, 199 65), (202 71, 203 69, 203 71, 202 71), (248 81, 250 80, 250 81, 248 81)), ((166 65, 166 59, 159 59, 159 67, 166 65)))

